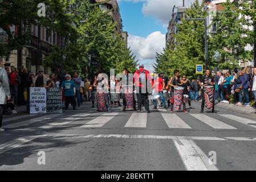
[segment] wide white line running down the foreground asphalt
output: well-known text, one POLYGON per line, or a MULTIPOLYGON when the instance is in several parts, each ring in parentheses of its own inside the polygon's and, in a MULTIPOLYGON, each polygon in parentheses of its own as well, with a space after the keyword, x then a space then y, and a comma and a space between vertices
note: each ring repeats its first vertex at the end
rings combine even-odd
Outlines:
POLYGON ((182 162, 189 171, 218 171, 216 166, 210 165, 208 157, 193 140, 174 139, 173 142, 181 156, 182 162))

